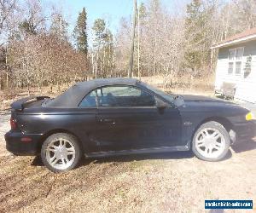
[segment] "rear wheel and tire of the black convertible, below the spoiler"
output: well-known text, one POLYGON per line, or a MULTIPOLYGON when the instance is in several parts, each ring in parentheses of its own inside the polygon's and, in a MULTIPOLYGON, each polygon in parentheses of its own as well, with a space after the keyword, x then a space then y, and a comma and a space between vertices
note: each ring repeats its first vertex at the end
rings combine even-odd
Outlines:
POLYGON ((41 148, 44 165, 55 173, 73 170, 78 166, 81 156, 78 140, 67 133, 50 135, 41 148))

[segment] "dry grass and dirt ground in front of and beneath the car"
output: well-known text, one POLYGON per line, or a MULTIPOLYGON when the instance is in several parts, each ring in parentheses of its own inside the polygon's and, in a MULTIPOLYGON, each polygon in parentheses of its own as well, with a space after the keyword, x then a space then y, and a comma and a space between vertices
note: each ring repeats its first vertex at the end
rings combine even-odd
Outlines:
POLYGON ((205 199, 256 201, 256 141, 217 163, 192 153, 150 154, 85 159, 76 170, 53 174, 39 158, 8 153, 8 129, 9 114, 2 113, 0 212, 208 212, 205 199))

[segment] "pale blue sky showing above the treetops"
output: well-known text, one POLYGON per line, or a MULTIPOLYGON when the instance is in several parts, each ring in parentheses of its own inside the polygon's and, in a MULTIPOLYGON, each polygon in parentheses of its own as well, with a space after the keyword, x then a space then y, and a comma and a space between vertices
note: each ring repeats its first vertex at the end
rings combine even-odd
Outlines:
MULTIPOLYGON (((183 7, 184 3, 189 0, 161 0, 165 8, 173 13, 178 7, 183 7)), ((137 3, 148 2, 147 0, 137 0, 137 3)), ((119 20, 122 17, 131 18, 133 11, 133 0, 42 0, 44 6, 55 5, 61 9, 62 14, 70 23, 69 32, 73 31, 79 12, 85 7, 87 12, 87 28, 88 37, 92 38, 91 27, 94 20, 104 18, 107 20, 108 28, 113 32, 117 32, 119 20)))

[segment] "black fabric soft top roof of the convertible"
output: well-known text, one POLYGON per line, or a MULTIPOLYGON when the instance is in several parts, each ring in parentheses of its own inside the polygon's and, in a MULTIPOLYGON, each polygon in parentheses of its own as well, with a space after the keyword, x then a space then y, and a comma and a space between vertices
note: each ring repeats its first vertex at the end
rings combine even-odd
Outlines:
POLYGON ((94 80, 76 83, 54 100, 48 101, 46 107, 78 107, 80 101, 91 90, 108 85, 136 85, 139 81, 135 78, 97 78, 94 80))

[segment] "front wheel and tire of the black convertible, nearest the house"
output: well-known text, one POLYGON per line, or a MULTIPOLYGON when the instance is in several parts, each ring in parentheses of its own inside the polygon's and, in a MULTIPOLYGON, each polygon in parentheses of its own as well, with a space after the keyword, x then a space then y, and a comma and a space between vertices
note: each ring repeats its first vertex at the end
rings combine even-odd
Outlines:
POLYGON ((197 158, 219 161, 226 157, 230 148, 230 135, 222 124, 210 121, 202 124, 192 141, 192 151, 197 158))

